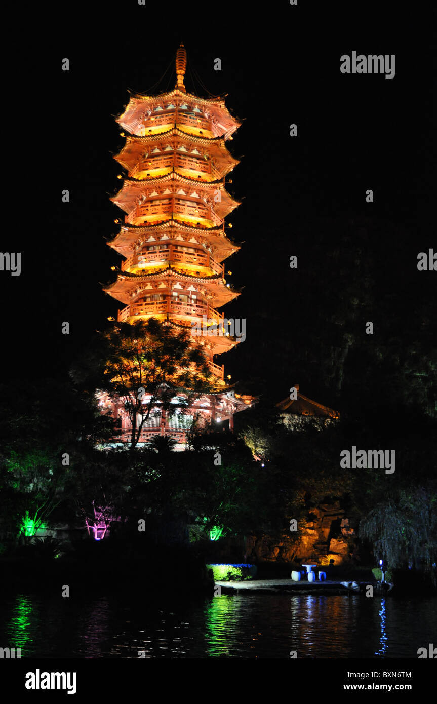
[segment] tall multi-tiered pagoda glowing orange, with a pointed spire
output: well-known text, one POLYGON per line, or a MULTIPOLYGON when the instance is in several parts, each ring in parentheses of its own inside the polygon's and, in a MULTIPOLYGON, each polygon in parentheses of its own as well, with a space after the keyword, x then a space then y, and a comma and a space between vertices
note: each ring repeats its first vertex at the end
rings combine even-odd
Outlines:
MULTIPOLYGON (((239 295, 224 278, 224 260, 240 249, 224 232, 224 218, 239 206, 224 180, 239 163, 225 142, 241 122, 227 111, 224 99, 187 93, 185 70, 181 44, 175 89, 158 96, 131 92, 116 118, 125 145, 114 158, 128 175, 111 200, 126 215, 124 222, 116 220, 120 232, 108 244, 125 260, 116 281, 104 287, 124 304, 120 322, 153 317, 175 329, 195 324, 220 329, 220 334, 196 339, 223 390, 198 398, 185 413, 176 408, 172 414, 151 415, 141 431, 140 443, 159 433, 175 437, 179 448, 194 413, 205 423, 229 420, 233 429, 234 413, 253 403, 252 396, 227 386, 224 366, 213 361, 239 342, 224 329, 224 313, 217 308, 239 295)), ((118 419, 118 436, 127 441, 131 425, 122 403, 105 394, 99 398, 103 410, 110 408, 118 419)))

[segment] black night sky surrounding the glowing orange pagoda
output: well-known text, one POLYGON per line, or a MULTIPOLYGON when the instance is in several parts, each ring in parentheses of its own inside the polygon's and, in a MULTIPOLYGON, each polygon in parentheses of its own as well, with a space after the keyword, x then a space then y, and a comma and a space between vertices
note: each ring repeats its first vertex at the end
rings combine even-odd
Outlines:
MULTIPOLYGON (((402 346, 404 335, 429 334, 436 274, 417 271, 417 253, 437 244, 431 17, 410 4, 382 5, 299 0, 213 11, 182 3, 151 11, 132 0, 75 5, 65 15, 54 5, 44 10, 58 24, 39 18, 42 35, 32 39, 25 87, 24 69, 11 87, 4 137, 16 140, 21 167, 15 161, 2 249, 22 253, 20 277, 1 272, 6 377, 62 379, 94 330, 122 308, 101 290, 120 262, 105 241, 120 216, 109 200, 120 188, 110 152, 123 144, 113 115, 127 88, 174 87, 181 41, 189 92, 206 95, 197 75, 211 94, 227 93, 227 107, 243 119, 227 144, 242 159, 228 189, 243 201, 227 232, 243 244, 226 263, 243 289, 223 310, 246 318, 246 341, 220 358, 225 374, 272 401, 299 382, 303 394, 336 408, 326 351, 336 345, 331 321, 350 287, 358 313, 344 325, 355 337, 366 341, 367 320, 375 327, 369 344, 402 346), (343 75, 340 57, 352 51, 395 54, 395 77, 343 75), (298 137, 289 136, 291 123, 298 137), (374 203, 365 202, 367 189, 374 203), (65 320, 70 335, 61 334, 65 320)), ((359 356, 354 363, 357 384, 359 356)))

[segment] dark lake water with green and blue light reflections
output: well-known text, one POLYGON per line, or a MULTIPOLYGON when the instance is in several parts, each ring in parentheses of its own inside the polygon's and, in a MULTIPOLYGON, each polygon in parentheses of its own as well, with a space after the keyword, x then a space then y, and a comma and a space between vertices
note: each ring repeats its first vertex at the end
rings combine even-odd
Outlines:
POLYGON ((1 601, 0 646, 22 658, 414 658, 437 598, 243 593, 1 601))

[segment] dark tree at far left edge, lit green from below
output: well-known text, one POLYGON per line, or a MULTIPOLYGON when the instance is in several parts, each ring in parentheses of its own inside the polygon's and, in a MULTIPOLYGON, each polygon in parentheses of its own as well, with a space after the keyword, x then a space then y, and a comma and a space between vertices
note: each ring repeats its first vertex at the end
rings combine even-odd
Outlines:
POLYGON ((0 521, 3 534, 32 537, 65 520, 71 466, 108 435, 90 394, 56 379, 11 379, 0 389, 0 521))

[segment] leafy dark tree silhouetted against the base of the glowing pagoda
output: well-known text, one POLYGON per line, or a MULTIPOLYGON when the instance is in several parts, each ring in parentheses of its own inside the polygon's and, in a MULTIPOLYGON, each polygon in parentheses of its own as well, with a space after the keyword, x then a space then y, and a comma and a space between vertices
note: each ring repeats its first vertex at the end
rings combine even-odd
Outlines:
POLYGON ((203 351, 187 330, 175 331, 155 318, 118 322, 101 343, 101 354, 90 367, 80 360, 71 374, 80 382, 97 380, 100 365, 99 390, 122 401, 132 427, 132 450, 153 413, 190 408, 196 398, 218 389, 203 351))

